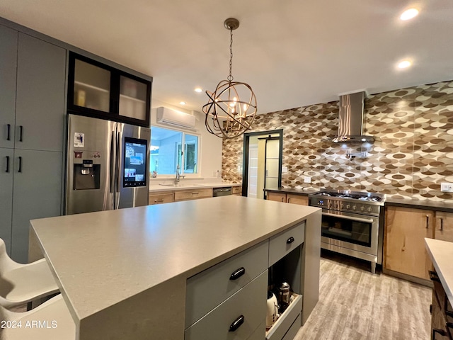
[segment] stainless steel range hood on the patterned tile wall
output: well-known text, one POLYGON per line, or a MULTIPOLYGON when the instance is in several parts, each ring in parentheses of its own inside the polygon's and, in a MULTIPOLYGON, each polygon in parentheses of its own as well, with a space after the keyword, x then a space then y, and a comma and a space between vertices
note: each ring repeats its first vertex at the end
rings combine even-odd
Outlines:
POLYGON ((333 138, 333 142, 374 142, 373 136, 363 135, 365 92, 340 96, 338 106, 338 135, 333 138))

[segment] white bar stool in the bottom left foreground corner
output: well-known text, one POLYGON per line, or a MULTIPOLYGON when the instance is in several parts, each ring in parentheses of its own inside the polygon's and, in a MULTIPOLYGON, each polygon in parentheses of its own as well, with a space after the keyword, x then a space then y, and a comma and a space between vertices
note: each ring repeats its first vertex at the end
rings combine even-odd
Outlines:
POLYGON ((61 294, 28 312, 0 306, 1 340, 75 340, 76 326, 61 294))

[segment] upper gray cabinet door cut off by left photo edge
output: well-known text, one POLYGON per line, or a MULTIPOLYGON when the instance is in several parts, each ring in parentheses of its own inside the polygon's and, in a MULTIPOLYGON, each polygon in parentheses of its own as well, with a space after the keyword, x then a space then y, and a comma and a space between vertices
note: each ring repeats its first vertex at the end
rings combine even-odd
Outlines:
POLYGON ((14 147, 17 37, 16 30, 0 25, 0 147, 14 147))

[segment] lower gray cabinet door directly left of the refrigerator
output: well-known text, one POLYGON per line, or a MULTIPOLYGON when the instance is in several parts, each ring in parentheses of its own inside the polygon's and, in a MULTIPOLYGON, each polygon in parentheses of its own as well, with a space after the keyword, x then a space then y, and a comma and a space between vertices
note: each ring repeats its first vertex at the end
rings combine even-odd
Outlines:
POLYGON ((11 247, 11 255, 15 261, 28 262, 30 220, 59 216, 61 194, 62 152, 16 149, 11 247), (19 167, 21 172, 18 172, 19 167))

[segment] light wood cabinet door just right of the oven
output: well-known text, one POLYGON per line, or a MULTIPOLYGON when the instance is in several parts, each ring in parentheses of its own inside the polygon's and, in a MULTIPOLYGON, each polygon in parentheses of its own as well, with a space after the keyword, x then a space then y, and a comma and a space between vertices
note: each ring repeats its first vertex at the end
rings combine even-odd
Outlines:
POLYGON ((388 207, 385 223, 385 268, 429 280, 431 261, 425 237, 432 238, 434 212, 388 207))

